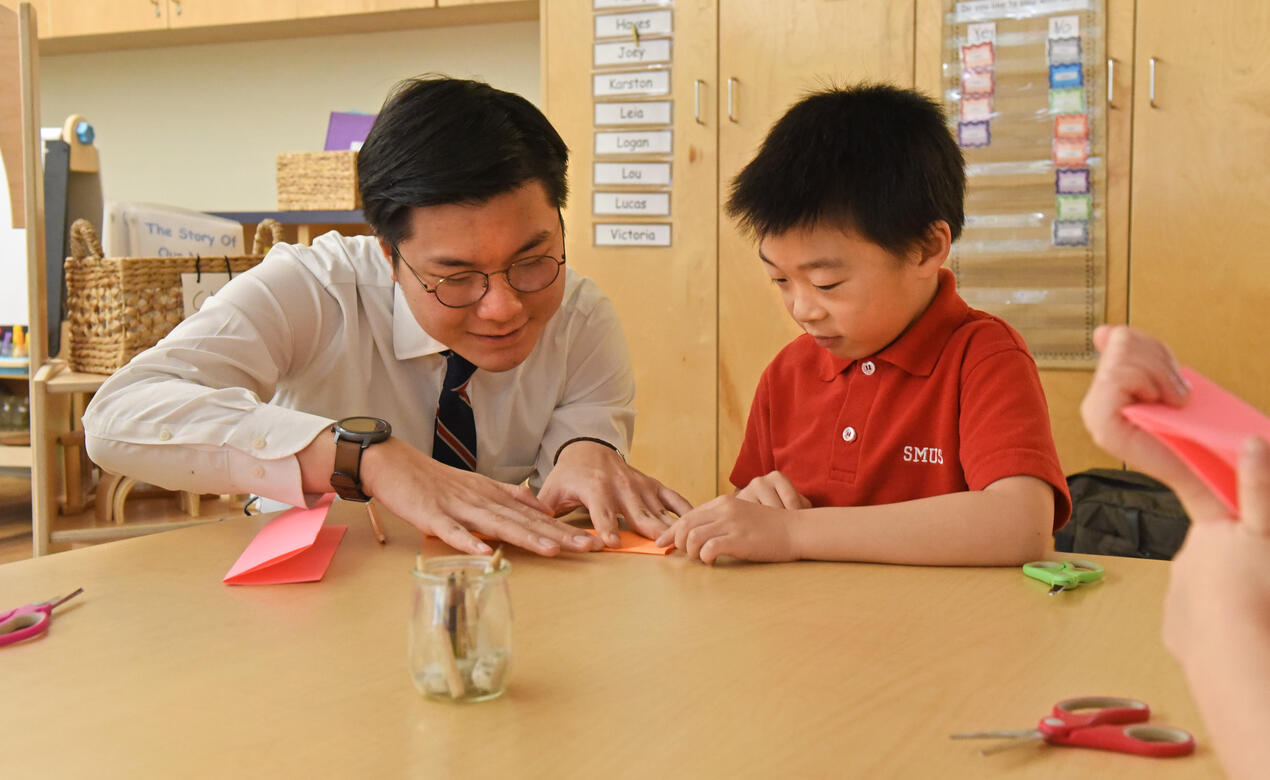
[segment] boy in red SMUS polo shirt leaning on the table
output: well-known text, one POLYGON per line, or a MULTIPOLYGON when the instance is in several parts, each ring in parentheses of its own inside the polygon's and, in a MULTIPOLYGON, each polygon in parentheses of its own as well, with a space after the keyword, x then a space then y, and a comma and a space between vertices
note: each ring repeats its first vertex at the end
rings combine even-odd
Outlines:
POLYGON ((1071 514, 1036 365, 944 268, 965 170, 939 105, 906 89, 795 104, 728 212, 805 332, 767 366, 735 494, 659 544, 692 558, 1012 565, 1071 514))

